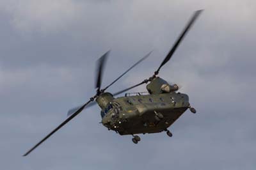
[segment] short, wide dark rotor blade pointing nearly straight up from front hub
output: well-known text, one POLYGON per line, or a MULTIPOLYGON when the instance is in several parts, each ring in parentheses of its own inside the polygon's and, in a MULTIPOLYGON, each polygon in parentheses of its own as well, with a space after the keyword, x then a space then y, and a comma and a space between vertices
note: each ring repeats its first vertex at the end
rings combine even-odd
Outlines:
POLYGON ((109 54, 110 50, 108 52, 106 52, 103 56, 101 56, 98 60, 98 64, 97 64, 97 79, 95 82, 95 88, 98 88, 98 90, 100 90, 100 86, 101 86, 101 81, 102 81, 102 72, 104 70, 104 65, 106 63, 106 58, 108 58, 108 54, 109 54))

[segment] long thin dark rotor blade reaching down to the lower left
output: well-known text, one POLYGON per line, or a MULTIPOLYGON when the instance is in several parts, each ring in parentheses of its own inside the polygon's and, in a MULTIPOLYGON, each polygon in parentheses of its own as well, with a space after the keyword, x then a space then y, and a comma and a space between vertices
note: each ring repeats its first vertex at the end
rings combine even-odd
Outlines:
POLYGON ((91 100, 89 100, 80 109, 78 109, 76 112, 74 112, 74 114, 72 114, 69 118, 67 118, 67 120, 63 121, 63 123, 61 123, 58 127, 56 127, 54 130, 52 130, 52 132, 50 134, 48 134, 46 137, 44 137, 44 139, 42 139, 33 148, 31 148, 27 153, 25 153, 23 155, 23 157, 26 157, 29 153, 31 153, 31 151, 35 150, 35 148, 37 148, 41 143, 43 143, 46 139, 48 139, 52 134, 54 134, 57 130, 59 130, 64 125, 66 125, 68 123, 68 121, 72 120, 75 116, 77 116, 77 114, 79 114, 81 111, 83 111, 84 107, 86 107, 86 105, 90 104, 90 102, 91 102, 91 100))

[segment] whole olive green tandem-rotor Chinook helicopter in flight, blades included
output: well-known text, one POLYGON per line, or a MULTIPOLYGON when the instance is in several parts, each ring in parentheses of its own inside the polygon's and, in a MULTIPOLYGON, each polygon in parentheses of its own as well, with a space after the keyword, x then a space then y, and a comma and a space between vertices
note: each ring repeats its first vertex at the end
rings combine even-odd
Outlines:
POLYGON ((189 104, 188 95, 177 92, 180 89, 177 84, 169 84, 157 75, 162 66, 172 58, 175 50, 180 42, 182 42, 184 36, 186 36, 186 33, 188 33, 200 13, 202 13, 202 10, 198 10, 192 15, 185 29, 174 43, 172 49, 166 58, 164 58, 156 72, 154 72, 154 75, 139 84, 113 94, 106 92, 106 89, 123 77, 129 70, 134 68, 134 66, 148 58, 151 52, 131 66, 126 72, 122 73, 120 77, 111 82, 106 88, 101 89, 102 72, 104 70, 106 58, 109 54, 109 51, 106 52, 99 59, 97 65, 97 81, 95 83, 97 93, 84 105, 68 111, 67 120, 63 121, 63 123, 52 130, 50 134, 44 137, 44 139, 33 146, 33 148, 23 156, 27 156, 31 151, 35 150, 35 148, 42 144, 52 134, 75 118, 84 108, 95 104, 98 104, 101 108, 100 115, 102 121, 100 123, 108 128, 108 130, 114 130, 120 135, 132 135, 132 142, 135 144, 141 141, 140 137, 135 134, 151 134, 166 131, 166 134, 172 137, 172 132, 167 128, 170 127, 170 125, 172 125, 187 109, 190 109, 193 113, 196 113, 196 110, 189 104), (147 92, 126 93, 124 97, 115 98, 116 95, 120 95, 121 93, 141 86, 142 84, 147 84, 147 92))

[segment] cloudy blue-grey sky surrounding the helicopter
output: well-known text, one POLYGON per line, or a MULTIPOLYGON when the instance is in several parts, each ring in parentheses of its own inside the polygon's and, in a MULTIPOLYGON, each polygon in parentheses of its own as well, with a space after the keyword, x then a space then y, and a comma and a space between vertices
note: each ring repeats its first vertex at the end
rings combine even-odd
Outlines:
POLYGON ((255 169, 255 17, 253 0, 0 0, 1 169, 255 169), (106 86, 153 50, 109 92, 141 82, 200 9, 159 73, 197 110, 169 128, 172 138, 140 135, 134 145, 99 124, 95 105, 22 157, 95 94, 104 52, 106 86))

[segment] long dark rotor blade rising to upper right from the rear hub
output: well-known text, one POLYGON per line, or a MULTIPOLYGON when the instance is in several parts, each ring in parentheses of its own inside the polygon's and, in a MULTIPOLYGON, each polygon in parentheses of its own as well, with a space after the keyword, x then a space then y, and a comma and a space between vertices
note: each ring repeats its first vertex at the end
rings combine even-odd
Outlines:
POLYGON ((170 52, 168 53, 168 55, 166 56, 166 58, 164 58, 163 62, 161 63, 161 65, 159 66, 159 68, 157 69, 156 73, 159 72, 159 70, 161 69, 161 67, 163 65, 165 65, 170 58, 172 58, 175 50, 177 49, 177 47, 179 47, 180 42, 182 42, 184 36, 186 36, 186 34, 188 33, 189 29, 191 28, 191 26, 193 26, 195 20, 198 18, 198 16, 200 15, 200 13, 202 13, 203 10, 198 10, 196 11, 193 16, 191 17, 191 19, 188 22, 188 25, 184 28, 184 30, 182 31, 182 33, 180 34, 179 38, 176 40, 176 42, 174 43, 172 49, 170 50, 170 52))

